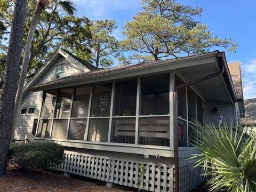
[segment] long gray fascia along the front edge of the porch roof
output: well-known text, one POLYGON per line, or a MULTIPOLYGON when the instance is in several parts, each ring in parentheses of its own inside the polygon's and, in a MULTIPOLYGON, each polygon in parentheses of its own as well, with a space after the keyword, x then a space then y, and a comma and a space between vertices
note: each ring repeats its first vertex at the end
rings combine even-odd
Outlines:
MULTIPOLYGON (((123 79, 128 77, 146 75, 146 74, 154 74, 154 73, 159 73, 163 71, 166 71, 167 73, 167 71, 171 71, 173 69, 213 63, 216 61, 217 53, 218 52, 213 52, 211 54, 205 54, 205 55, 196 55, 193 58, 181 58, 179 60, 177 59, 173 61, 169 60, 166 62, 157 63, 156 65, 153 64, 150 66, 143 66, 141 68, 134 68, 132 70, 127 70, 127 71, 116 71, 114 73, 102 74, 99 76, 91 76, 83 79, 74 79, 74 81, 69 81, 67 84, 60 82, 59 84, 54 84, 53 86, 47 86, 43 88, 43 90, 57 89, 58 87, 67 87, 67 86, 74 86, 74 85, 83 85, 83 84, 90 84, 90 83, 96 83, 96 82, 111 81, 114 79, 123 79), (198 56, 201 56, 201 57, 198 57, 198 56)), ((37 87, 35 87, 33 90, 34 91, 42 90, 41 88, 42 86, 38 85, 38 89, 37 87)))

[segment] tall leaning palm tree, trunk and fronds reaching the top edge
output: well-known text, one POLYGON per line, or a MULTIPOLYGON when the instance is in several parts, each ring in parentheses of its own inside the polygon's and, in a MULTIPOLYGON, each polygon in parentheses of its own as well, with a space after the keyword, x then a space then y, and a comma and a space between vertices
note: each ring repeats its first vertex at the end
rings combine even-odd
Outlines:
MULTIPOLYGON (((24 52, 21 71, 20 71, 18 89, 17 89, 17 93, 16 93, 16 98, 15 98, 14 117, 13 117, 13 123, 12 123, 12 135, 14 134, 14 129, 17 125, 17 117, 19 115, 19 108, 20 108, 20 102, 22 99, 23 86, 25 85, 25 79, 27 76, 27 69, 28 69, 29 60, 30 60, 30 52, 31 52, 33 36, 34 36, 36 26, 39 21, 39 17, 41 15, 42 11, 45 9, 45 7, 49 7, 49 9, 52 10, 53 14, 52 14, 52 18, 49 22, 49 28, 47 29, 47 32, 46 32, 45 36, 43 37, 43 41, 47 38, 47 35, 49 35, 49 33, 50 33, 51 23, 54 20, 54 13, 58 7, 69 15, 74 15, 76 12, 74 3, 69 0, 65 0, 65 1, 37 0, 36 1, 35 14, 34 14, 34 17, 31 19, 31 24, 30 24, 30 28, 29 28, 29 33, 28 33, 28 37, 27 37, 25 52, 24 52)), ((43 41, 42 41, 42 43, 43 43, 43 41)))

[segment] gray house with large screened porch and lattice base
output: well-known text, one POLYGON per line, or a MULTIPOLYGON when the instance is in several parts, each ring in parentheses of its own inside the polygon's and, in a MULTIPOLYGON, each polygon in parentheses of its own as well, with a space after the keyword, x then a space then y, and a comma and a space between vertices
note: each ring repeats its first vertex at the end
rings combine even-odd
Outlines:
POLYGON ((14 137, 65 146, 59 171, 109 186, 190 191, 202 182, 187 159, 196 121, 234 125, 244 110, 230 72, 219 51, 98 69, 58 50, 26 84, 14 137))

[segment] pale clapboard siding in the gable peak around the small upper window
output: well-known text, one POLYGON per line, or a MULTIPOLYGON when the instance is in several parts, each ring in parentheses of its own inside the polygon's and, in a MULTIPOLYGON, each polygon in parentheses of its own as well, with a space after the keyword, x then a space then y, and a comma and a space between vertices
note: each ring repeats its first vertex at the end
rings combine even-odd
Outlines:
POLYGON ((45 71, 45 73, 38 79, 38 81, 35 83, 35 85, 43 84, 49 81, 52 81, 55 77, 55 69, 56 66, 63 65, 64 66, 64 72, 63 77, 83 73, 85 70, 82 70, 81 68, 78 68, 74 63, 71 63, 66 58, 61 57, 57 59, 52 66, 45 71))

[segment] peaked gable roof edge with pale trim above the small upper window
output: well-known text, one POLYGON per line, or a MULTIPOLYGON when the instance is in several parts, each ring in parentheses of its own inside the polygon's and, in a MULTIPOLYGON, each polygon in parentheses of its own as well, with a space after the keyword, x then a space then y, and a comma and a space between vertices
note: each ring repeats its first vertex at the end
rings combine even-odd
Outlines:
POLYGON ((39 77, 41 77, 47 69, 49 69, 51 64, 59 57, 59 55, 62 55, 63 57, 68 59, 70 62, 77 65, 77 67, 80 68, 81 70, 83 70, 84 72, 98 69, 97 67, 76 57, 75 55, 73 55, 67 51, 64 51, 62 49, 58 49, 51 55, 51 57, 46 61, 46 63, 43 65, 43 67, 41 67, 41 69, 39 69, 37 71, 36 75, 33 78, 31 78, 30 81, 25 85, 25 87, 23 89, 23 93, 25 93, 29 89, 29 87, 31 87, 37 81, 37 79, 39 77))

